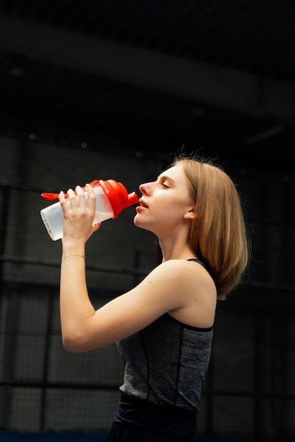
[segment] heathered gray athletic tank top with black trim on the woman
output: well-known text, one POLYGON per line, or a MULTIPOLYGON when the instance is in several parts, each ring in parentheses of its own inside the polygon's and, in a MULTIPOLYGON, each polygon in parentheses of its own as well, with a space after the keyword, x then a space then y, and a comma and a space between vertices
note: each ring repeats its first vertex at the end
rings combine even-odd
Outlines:
POLYGON ((198 411, 212 338, 213 327, 191 327, 166 313, 117 342, 125 364, 121 393, 154 405, 198 411))

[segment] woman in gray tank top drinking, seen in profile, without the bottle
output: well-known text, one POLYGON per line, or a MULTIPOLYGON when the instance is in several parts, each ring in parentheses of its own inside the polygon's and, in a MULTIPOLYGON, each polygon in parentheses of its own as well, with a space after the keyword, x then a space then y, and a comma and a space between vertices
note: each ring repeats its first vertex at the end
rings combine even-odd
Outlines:
POLYGON ((248 263, 241 202, 219 166, 185 155, 139 190, 134 223, 157 236, 162 263, 97 311, 84 259, 85 243, 100 227, 92 225, 95 193, 78 186, 77 203, 70 189, 71 209, 59 195, 64 347, 85 352, 117 342, 125 374, 109 442, 196 441, 216 302, 239 284, 248 263))

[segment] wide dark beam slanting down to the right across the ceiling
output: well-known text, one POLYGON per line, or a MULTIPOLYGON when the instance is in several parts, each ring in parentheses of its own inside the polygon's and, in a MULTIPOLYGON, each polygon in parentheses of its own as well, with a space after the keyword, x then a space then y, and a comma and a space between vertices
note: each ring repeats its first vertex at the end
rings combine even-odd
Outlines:
POLYGON ((294 124, 295 84, 0 14, 0 48, 198 103, 294 124))

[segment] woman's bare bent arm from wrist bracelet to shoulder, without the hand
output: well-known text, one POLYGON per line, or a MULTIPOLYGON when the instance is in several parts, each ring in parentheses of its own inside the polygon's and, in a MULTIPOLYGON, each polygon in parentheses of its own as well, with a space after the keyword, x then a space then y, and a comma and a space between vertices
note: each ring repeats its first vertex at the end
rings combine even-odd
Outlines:
POLYGON ((171 260, 95 311, 88 297, 83 261, 68 258, 61 270, 61 330, 64 347, 72 352, 94 350, 133 335, 164 313, 187 307, 195 292, 192 263, 171 260))

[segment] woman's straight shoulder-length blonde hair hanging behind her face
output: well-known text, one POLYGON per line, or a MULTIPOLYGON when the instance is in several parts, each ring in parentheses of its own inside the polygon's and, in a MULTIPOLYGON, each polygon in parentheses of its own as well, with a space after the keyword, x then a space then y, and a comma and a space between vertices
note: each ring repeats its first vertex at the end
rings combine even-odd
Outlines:
POLYGON ((182 165, 195 201, 189 241, 217 287, 217 299, 241 282, 250 257, 250 241, 234 182, 212 160, 180 155, 170 167, 182 165))

